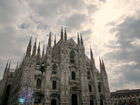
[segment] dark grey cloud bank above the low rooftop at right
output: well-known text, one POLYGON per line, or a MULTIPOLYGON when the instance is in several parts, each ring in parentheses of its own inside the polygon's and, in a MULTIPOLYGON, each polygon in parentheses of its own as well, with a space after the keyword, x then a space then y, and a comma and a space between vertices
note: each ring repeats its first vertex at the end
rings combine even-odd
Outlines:
MULTIPOLYGON (((105 55, 107 59, 110 59, 111 61, 114 60, 116 63, 122 63, 119 69, 117 67, 115 68, 116 70, 119 70, 119 73, 122 75, 121 79, 124 81, 123 86, 120 86, 122 88, 132 88, 132 83, 135 85, 134 88, 139 87, 140 46, 136 41, 140 40, 139 24, 140 19, 135 17, 127 17, 123 23, 119 24, 115 29, 115 31, 118 32, 116 34, 118 50, 114 50, 113 52, 109 52, 105 55), (123 65, 123 63, 126 64, 123 65)), ((111 48, 116 49, 116 47, 111 48)))

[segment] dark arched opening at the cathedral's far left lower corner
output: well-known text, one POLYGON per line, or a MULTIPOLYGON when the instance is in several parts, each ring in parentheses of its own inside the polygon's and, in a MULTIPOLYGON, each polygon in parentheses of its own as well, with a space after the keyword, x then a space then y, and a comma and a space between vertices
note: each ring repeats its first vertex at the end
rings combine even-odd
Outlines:
POLYGON ((10 89, 11 85, 8 85, 6 87, 5 93, 4 93, 4 98, 3 98, 3 105, 8 105, 8 100, 9 100, 9 95, 10 95, 10 89))

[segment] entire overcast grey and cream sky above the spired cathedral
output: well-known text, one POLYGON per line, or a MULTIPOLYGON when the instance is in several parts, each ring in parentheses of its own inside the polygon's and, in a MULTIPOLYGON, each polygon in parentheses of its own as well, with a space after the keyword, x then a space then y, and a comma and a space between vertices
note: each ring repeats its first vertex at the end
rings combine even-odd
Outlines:
POLYGON ((15 65, 30 36, 42 45, 61 26, 81 32, 89 55, 105 59, 111 91, 140 88, 139 0, 0 0, 0 78, 5 62, 15 65))

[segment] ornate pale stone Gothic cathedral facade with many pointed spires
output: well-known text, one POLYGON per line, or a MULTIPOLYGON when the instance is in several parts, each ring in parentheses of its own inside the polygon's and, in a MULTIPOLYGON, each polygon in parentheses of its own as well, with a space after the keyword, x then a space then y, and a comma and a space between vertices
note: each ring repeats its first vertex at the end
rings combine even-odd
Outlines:
POLYGON ((108 77, 104 61, 100 70, 90 49, 85 55, 83 39, 77 43, 67 39, 66 29, 61 38, 54 40, 49 34, 48 45, 30 38, 23 61, 11 72, 7 63, 0 81, 0 105, 111 105, 108 77))

